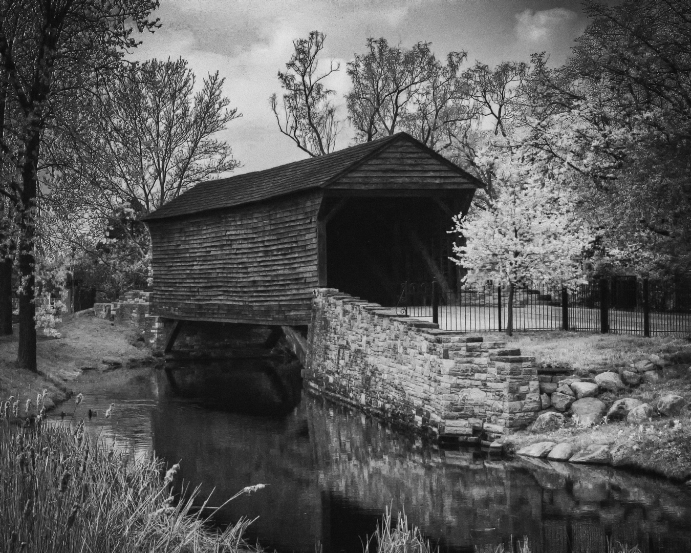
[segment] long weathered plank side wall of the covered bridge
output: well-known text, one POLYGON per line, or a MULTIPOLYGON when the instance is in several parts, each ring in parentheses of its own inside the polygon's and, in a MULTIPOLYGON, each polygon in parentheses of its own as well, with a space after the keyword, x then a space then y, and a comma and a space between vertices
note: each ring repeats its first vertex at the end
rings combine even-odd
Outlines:
POLYGON ((307 324, 321 191, 149 221, 156 315, 307 324))

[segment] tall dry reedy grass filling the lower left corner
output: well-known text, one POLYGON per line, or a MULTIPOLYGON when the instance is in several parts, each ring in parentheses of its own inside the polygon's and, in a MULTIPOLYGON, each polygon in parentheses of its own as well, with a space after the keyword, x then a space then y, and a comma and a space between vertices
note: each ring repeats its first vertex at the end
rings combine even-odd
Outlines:
POLYGON ((83 422, 22 416, 18 402, 0 403, 0 551, 255 551, 242 539, 246 519, 214 530, 200 513, 215 509, 193 509, 195 493, 171 496, 176 467, 162 478, 162 462, 92 443, 83 422))

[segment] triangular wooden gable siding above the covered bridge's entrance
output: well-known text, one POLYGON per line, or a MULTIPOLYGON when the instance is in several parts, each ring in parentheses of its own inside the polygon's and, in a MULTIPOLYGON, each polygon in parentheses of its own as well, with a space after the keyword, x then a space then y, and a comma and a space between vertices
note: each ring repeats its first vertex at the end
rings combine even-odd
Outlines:
POLYGON ((407 140, 389 144, 377 156, 364 161, 328 185, 329 189, 475 189, 448 162, 430 156, 407 140))

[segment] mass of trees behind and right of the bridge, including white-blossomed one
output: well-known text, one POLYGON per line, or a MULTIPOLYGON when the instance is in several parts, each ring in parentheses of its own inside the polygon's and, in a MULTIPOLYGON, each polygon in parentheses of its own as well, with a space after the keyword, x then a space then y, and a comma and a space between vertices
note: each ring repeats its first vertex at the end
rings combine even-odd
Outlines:
MULTIPOLYGON (((406 131, 484 182, 455 221, 468 281, 574 285, 691 268, 691 6, 587 0, 583 8, 589 26, 560 67, 544 53, 494 68, 468 64, 462 50, 442 61, 428 43, 384 38, 347 64, 357 142, 406 131)), ((303 59, 304 71, 316 72, 324 38, 310 34, 319 48, 307 57, 309 41, 295 41, 289 71, 303 59)), ((299 122, 310 91, 284 94, 284 113, 299 122)), ((341 124, 333 91, 319 92, 312 118, 328 109, 332 138, 330 149, 303 148, 314 156, 334 148, 341 124)), ((318 142, 309 126, 303 135, 318 142)))

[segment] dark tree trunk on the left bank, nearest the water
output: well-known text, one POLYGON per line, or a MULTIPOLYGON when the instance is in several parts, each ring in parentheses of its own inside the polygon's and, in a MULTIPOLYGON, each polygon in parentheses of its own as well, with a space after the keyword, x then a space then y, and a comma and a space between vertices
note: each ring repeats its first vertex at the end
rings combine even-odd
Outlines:
POLYGON ((19 349, 17 364, 37 371, 36 304, 35 304, 35 217, 36 192, 41 134, 38 126, 30 126, 21 166, 21 208, 19 212, 19 349))

